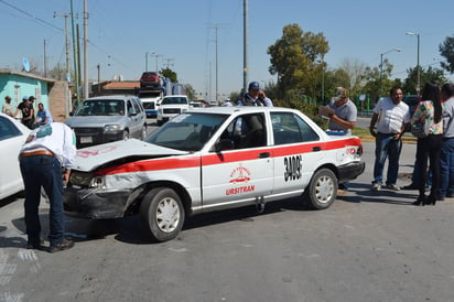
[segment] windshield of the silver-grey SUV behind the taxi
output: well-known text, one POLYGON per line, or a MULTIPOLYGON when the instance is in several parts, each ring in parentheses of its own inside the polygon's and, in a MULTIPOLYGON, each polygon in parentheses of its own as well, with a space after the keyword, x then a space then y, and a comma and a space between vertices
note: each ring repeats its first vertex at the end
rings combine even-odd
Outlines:
POLYGON ((123 116, 125 101, 120 99, 90 99, 77 108, 74 116, 123 116))

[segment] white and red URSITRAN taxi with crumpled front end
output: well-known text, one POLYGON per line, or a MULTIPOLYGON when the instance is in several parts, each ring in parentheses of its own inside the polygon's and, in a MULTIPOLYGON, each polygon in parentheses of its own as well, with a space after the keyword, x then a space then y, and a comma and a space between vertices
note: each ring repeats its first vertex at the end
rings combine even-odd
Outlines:
POLYGON ((357 137, 327 136, 298 110, 210 107, 170 120, 145 141, 80 149, 65 191, 68 214, 140 214, 158 241, 186 216, 302 196, 317 209, 364 172, 357 137))

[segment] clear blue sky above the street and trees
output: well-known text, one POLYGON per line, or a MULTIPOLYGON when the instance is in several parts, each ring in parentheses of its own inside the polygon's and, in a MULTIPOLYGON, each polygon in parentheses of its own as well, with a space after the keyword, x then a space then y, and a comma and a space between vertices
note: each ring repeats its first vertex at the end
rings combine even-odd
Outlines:
MULTIPOLYGON (((83 0, 73 0, 83 35, 83 0)), ((159 68, 174 69, 180 82, 191 84, 203 96, 216 88, 216 30, 218 91, 228 95, 242 86, 244 0, 87 0, 89 77, 122 75, 138 79, 145 69, 147 52, 158 53, 159 68)), ((249 79, 263 84, 270 75, 267 48, 280 39, 282 28, 298 23, 303 31, 323 33, 329 43, 325 60, 329 68, 343 60, 358 60, 368 66, 380 64, 380 54, 393 64, 393 77, 407 77, 417 65, 442 58, 439 44, 454 35, 452 0, 249 0, 249 79)), ((43 66, 44 40, 47 66, 65 64, 64 18, 69 0, 0 0, 0 68, 21 68, 22 57, 43 66), (13 6, 14 8, 12 8, 13 6)), ((71 22, 69 22, 71 30, 71 22)), ((148 56, 155 69, 156 57, 148 56)), ((450 75, 450 78, 453 78, 450 75)))

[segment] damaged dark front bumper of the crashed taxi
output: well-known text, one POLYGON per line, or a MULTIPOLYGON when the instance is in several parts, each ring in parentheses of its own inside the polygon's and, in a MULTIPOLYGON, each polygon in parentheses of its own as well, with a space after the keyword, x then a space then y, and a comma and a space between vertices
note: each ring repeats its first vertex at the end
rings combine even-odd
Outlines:
POLYGON ((67 187, 64 208, 69 216, 107 219, 125 216, 131 190, 97 190, 67 187))

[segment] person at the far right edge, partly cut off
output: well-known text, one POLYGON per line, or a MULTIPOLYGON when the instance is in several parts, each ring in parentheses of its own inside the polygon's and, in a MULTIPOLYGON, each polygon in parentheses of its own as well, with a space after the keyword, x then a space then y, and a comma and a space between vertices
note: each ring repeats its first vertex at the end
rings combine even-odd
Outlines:
POLYGON ((444 201, 445 197, 454 197, 454 85, 444 84, 441 97, 444 106, 437 199, 444 201))

